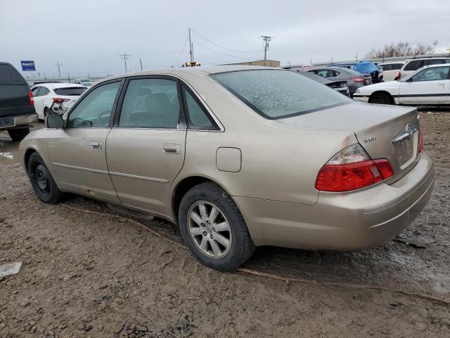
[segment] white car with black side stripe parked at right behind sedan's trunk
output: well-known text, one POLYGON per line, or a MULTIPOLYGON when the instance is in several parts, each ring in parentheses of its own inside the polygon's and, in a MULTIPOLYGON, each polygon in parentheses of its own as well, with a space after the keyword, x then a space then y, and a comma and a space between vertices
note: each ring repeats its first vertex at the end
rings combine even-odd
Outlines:
POLYGON ((450 63, 428 65, 399 81, 361 87, 353 99, 371 104, 450 104, 450 63))

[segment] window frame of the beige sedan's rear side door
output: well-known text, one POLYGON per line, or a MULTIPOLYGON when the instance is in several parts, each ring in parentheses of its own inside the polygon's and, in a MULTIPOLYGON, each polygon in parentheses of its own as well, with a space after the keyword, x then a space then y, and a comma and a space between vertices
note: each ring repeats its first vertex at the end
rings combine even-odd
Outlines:
MULTIPOLYGON (((127 88, 129 85, 129 82, 131 80, 143 80, 143 79, 166 79, 166 80, 172 80, 176 83, 176 92, 178 94, 178 101, 180 106, 180 123, 179 127, 176 130, 186 130, 186 113, 184 111, 184 105, 183 105, 183 99, 181 96, 181 85, 178 77, 170 76, 170 75, 136 75, 136 76, 129 76, 124 78, 124 83, 122 84, 122 90, 120 92, 119 99, 117 101, 117 106, 115 107, 115 114, 114 119, 112 121, 112 126, 115 128, 127 128, 127 127, 120 127, 120 112, 122 111, 122 105, 124 103, 125 94, 127 93, 127 88)), ((141 129, 167 129, 167 128, 152 128, 152 127, 145 127, 141 129)))

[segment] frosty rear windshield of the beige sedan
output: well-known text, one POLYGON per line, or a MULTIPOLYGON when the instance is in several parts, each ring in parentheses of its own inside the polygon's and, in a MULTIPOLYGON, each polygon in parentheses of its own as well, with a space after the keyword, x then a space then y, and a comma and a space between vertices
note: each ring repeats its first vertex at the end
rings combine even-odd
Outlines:
POLYGON ((335 90, 288 70, 240 70, 211 77, 270 120, 352 102, 335 90))

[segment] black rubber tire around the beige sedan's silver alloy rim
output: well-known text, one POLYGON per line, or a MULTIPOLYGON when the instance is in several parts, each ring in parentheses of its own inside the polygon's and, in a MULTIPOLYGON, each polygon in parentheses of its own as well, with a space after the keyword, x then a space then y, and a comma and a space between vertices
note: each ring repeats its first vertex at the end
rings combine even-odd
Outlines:
POLYGON ((195 258, 208 268, 217 271, 235 270, 245 263, 245 261, 247 261, 255 252, 255 244, 252 242, 247 225, 245 225, 245 220, 240 213, 238 206, 236 206, 229 194, 214 182, 198 184, 186 192, 183 199, 181 199, 178 220, 181 236, 183 237, 186 246, 188 246, 195 258), (207 256, 207 254, 198 247, 198 244, 195 244, 195 239, 193 239, 190 230, 188 229, 188 212, 191 210, 191 207, 202 201, 217 206, 229 223, 232 240, 228 251, 223 257, 213 258, 207 256))

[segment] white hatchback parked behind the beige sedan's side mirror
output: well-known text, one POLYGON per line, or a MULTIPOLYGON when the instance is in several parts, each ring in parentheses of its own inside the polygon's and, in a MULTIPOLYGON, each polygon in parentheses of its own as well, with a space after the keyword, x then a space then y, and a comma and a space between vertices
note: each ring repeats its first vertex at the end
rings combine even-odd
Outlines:
POLYGON ((85 86, 73 83, 40 83, 32 87, 34 108, 39 119, 44 120, 52 113, 54 103, 62 104, 63 108, 72 106, 78 97, 86 90, 85 86))

